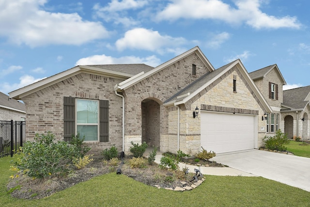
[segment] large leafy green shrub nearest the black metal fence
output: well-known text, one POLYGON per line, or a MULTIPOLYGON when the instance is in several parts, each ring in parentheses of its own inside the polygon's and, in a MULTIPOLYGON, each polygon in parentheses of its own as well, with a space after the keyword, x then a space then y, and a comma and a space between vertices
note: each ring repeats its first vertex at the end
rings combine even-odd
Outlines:
POLYGON ((34 178, 67 174, 72 169, 73 159, 83 157, 80 145, 54 140, 51 132, 36 134, 34 142, 27 141, 20 147, 20 157, 14 166, 34 178))

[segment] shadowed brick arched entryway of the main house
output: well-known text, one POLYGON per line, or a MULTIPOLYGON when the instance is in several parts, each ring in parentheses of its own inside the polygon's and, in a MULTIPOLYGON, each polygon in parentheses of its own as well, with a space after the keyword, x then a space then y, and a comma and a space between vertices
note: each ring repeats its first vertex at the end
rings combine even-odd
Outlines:
POLYGON ((142 142, 149 146, 160 147, 160 105, 154 99, 147 98, 141 103, 142 142))

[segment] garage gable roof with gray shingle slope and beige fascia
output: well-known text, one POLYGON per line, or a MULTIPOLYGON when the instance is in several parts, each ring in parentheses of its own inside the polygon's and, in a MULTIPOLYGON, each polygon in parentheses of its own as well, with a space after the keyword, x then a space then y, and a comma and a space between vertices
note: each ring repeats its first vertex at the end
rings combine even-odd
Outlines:
POLYGON ((185 104, 187 101, 194 98, 196 95, 198 95, 202 90, 207 88, 208 86, 212 84, 217 84, 216 81, 223 76, 227 71, 232 69, 234 66, 237 66, 240 73, 244 77, 244 79, 247 81, 249 87, 253 90, 253 96, 255 95, 258 98, 258 101, 261 103, 261 107, 265 109, 267 112, 271 112, 271 108, 268 105, 267 101, 263 97, 260 90, 257 88, 253 80, 249 77, 247 70, 241 63, 241 61, 238 59, 236 61, 233 61, 230 64, 226 64, 217 70, 208 73, 204 76, 202 76, 200 79, 194 81, 189 86, 181 90, 178 94, 172 96, 167 101, 165 101, 164 105, 179 105, 179 104, 185 104))

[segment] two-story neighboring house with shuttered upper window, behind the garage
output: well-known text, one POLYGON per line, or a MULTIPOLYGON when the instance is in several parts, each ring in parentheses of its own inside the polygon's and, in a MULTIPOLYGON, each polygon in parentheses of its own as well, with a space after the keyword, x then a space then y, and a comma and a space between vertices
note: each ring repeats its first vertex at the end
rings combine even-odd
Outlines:
POLYGON ((266 113, 267 136, 274 136, 278 129, 284 129, 284 116, 281 114, 283 103, 283 85, 286 82, 277 66, 269 65, 262 69, 249 73, 255 84, 262 92, 271 107, 271 113, 266 113))

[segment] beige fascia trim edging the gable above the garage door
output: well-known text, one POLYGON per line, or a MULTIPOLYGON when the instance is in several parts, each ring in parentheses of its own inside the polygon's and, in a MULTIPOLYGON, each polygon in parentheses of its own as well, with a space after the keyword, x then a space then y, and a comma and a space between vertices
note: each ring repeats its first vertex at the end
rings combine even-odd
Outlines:
POLYGON ((209 80, 208 82, 206 82, 202 87, 200 87, 199 89, 197 89, 194 93, 190 94, 189 96, 187 96, 186 98, 184 98, 181 101, 175 102, 174 105, 179 105, 179 104, 185 104, 187 101, 189 101, 191 98, 193 98, 194 96, 196 96, 198 93, 200 93, 204 88, 206 88, 208 85, 210 85, 212 82, 214 82, 215 80, 217 80, 219 77, 221 77, 224 73, 226 73, 228 70, 230 70, 231 68, 233 68, 234 66, 238 66, 239 65, 239 71, 242 73, 243 77, 246 78, 249 86, 253 89, 255 95, 258 97, 258 99, 260 100, 260 102, 263 104, 264 109, 266 110, 266 112, 271 112, 272 109, 269 106, 269 104, 267 103, 266 99, 263 97, 263 94, 260 92, 260 90, 257 88, 257 86, 255 85, 255 83, 253 82, 253 80, 249 77, 248 72, 246 70, 246 68, 244 67, 244 65, 241 63, 240 59, 236 60, 233 64, 229 65, 225 70, 223 70, 221 73, 217 74, 216 77, 214 77, 213 79, 209 80))

